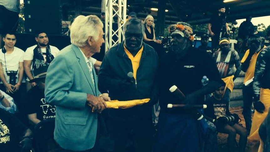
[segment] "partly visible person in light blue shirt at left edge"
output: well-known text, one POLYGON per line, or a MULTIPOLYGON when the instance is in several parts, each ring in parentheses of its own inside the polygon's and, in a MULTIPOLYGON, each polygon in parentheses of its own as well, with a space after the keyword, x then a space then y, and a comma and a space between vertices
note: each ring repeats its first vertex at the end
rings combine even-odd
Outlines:
POLYGON ((0 108, 13 114, 17 110, 17 106, 15 105, 13 98, 2 90, 0 90, 0 108))

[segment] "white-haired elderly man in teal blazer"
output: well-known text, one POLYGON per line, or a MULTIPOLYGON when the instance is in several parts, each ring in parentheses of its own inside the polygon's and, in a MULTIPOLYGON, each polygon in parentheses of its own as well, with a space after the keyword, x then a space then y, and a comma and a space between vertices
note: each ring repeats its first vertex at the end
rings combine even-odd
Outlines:
POLYGON ((104 43, 102 28, 95 15, 75 18, 71 45, 60 51, 47 71, 45 99, 56 107, 55 141, 66 151, 100 151, 99 126, 104 122, 99 113, 110 98, 98 90, 91 56, 104 43))

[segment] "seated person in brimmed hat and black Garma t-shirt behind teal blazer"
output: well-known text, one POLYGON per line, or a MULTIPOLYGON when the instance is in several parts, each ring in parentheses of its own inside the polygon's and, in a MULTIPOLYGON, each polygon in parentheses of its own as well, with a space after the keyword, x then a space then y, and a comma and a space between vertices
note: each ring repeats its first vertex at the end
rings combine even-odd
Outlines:
MULTIPOLYGON (((35 125, 42 120, 55 118, 55 106, 47 103, 44 95, 47 69, 48 66, 41 66, 38 69, 34 69, 34 79, 29 81, 30 83, 35 82, 37 84, 27 92, 24 101, 24 110, 29 123, 32 125, 30 127, 31 129, 34 129, 35 125)), ((53 138, 53 134, 50 132, 37 140, 43 152, 48 151, 47 141, 49 138, 53 138)))

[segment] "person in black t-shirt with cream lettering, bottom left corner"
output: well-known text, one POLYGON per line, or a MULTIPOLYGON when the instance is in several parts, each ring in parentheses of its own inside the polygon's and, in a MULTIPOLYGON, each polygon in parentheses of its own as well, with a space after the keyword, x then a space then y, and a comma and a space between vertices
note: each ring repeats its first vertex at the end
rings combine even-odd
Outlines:
POLYGON ((32 132, 11 113, 0 108, 0 149, 3 152, 29 152, 32 132))

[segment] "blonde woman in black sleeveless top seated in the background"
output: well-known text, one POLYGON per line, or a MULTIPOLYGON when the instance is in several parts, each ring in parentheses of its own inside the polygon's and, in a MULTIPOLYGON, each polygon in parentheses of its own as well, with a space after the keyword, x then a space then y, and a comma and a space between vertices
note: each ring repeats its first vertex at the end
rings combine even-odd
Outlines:
POLYGON ((155 35, 155 24, 154 24, 154 18, 152 15, 147 15, 147 17, 143 21, 144 27, 145 27, 145 33, 143 34, 143 41, 152 46, 157 54, 158 58, 160 59, 162 55, 164 55, 163 46, 161 45, 161 40, 156 39, 155 35))

